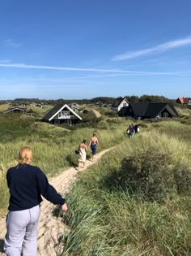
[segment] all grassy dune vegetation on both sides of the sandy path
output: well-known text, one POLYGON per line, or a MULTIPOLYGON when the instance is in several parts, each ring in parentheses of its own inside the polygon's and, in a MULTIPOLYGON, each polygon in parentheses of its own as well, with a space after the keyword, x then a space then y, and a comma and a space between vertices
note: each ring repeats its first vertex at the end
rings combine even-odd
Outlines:
POLYGON ((21 146, 31 146, 33 164, 53 176, 76 165, 74 150, 96 132, 99 150, 116 147, 79 173, 66 195, 69 211, 58 213, 66 223, 63 255, 190 255, 191 120, 184 113, 141 122, 133 139, 125 133, 132 121, 109 117, 105 109, 96 121, 85 114, 86 125, 75 128, 0 113, 0 205, 7 206, 6 170, 21 146))

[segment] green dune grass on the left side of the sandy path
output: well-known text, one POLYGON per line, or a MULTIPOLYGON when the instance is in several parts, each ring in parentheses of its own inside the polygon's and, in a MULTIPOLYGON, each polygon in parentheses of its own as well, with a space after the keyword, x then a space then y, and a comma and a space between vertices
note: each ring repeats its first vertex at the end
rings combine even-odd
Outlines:
MULTIPOLYGON (((33 152, 33 165, 40 167, 49 176, 55 176, 67 167, 76 166, 78 157, 74 154, 83 139, 89 143, 92 133, 99 138, 98 152, 121 142, 124 137, 125 124, 111 124, 107 127, 102 120, 100 127, 69 130, 40 122, 28 115, 0 115, 0 197, 1 207, 7 206, 8 189, 6 188, 6 171, 16 165, 19 149, 28 145, 33 152)), ((87 158, 91 150, 87 152, 87 158)))

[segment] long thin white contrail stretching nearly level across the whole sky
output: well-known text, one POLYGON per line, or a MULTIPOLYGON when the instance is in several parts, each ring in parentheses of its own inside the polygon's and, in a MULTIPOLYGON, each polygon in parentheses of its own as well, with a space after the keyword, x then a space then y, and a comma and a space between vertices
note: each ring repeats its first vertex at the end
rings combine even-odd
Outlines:
POLYGON ((129 71, 121 69, 101 69, 101 68, 80 68, 80 67, 55 67, 55 66, 41 66, 41 65, 27 65, 24 63, 0 63, 0 67, 15 67, 15 68, 28 68, 28 69, 42 69, 42 70, 57 70, 57 71, 69 71, 69 72, 104 72, 126 75, 184 75, 189 72, 141 72, 141 71, 129 71))

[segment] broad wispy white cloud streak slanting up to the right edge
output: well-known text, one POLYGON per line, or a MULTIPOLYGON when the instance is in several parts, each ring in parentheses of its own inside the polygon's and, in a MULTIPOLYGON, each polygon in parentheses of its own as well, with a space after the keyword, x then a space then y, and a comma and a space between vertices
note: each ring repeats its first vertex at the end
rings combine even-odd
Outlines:
POLYGON ((124 60, 124 59, 134 59, 143 55, 160 53, 160 52, 168 51, 181 46, 189 46, 189 45, 191 45, 191 37, 186 37, 186 38, 178 39, 175 41, 168 41, 166 43, 163 43, 151 48, 129 51, 125 54, 118 54, 117 56, 113 57, 112 60, 117 61, 117 60, 124 60))

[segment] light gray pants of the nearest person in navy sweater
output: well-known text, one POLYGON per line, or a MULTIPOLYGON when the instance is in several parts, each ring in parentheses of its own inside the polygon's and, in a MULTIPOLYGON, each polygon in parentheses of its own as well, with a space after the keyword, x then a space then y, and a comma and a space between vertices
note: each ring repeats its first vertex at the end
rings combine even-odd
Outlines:
POLYGON ((28 210, 9 211, 6 217, 4 250, 7 256, 37 255, 37 226, 40 206, 28 210))

